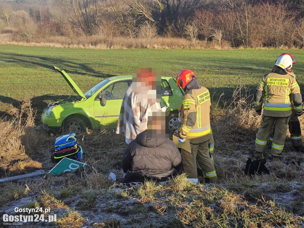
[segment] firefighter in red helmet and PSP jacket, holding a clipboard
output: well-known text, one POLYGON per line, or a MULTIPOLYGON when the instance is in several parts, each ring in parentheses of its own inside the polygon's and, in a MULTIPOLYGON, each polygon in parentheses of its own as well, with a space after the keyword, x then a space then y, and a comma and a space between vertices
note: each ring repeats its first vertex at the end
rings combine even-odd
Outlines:
POLYGON ((188 139, 191 145, 191 153, 181 149, 184 171, 189 181, 198 182, 198 163, 206 182, 216 183, 217 176, 210 153, 211 147, 213 150, 213 138, 210 127, 209 90, 200 86, 195 74, 187 69, 178 74, 176 83, 185 91, 180 110, 181 127, 178 141, 184 143, 184 140, 188 139))

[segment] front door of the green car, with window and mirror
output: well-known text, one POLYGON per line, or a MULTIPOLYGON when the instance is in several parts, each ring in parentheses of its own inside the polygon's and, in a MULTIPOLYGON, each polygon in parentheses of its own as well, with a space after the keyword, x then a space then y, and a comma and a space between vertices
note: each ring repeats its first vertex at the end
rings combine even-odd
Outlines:
POLYGON ((131 83, 132 80, 113 82, 96 96, 94 101, 96 127, 115 126, 119 118, 123 97, 131 83), (106 99, 105 106, 102 106, 101 98, 106 99))

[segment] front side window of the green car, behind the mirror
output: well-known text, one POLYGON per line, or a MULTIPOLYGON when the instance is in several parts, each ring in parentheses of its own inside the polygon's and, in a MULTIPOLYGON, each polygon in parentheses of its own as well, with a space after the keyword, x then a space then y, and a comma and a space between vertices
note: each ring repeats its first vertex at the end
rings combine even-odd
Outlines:
POLYGON ((129 88, 129 85, 131 85, 131 82, 131 80, 114 82, 107 88, 103 89, 102 92, 98 94, 96 99, 100 99, 99 97, 104 97, 107 100, 123 99, 127 89, 129 88))

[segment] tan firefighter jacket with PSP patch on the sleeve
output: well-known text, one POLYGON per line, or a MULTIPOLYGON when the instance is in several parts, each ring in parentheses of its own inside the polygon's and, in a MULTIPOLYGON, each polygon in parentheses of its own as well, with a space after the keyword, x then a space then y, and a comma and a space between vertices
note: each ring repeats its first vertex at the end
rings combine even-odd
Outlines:
MULTIPOLYGON (((199 86, 200 87, 200 86, 199 86)), ((201 143, 203 137, 211 133, 210 94, 204 87, 185 92, 181 106, 181 127, 179 137, 191 143, 201 143)))

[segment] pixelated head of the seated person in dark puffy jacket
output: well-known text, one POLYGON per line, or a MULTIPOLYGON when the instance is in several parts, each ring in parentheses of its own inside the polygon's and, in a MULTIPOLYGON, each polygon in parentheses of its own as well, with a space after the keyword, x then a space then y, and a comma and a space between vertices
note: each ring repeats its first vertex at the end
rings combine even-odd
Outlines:
POLYGON ((166 112, 152 112, 148 116, 148 137, 168 139, 169 134, 166 132, 168 118, 169 116, 166 112))

